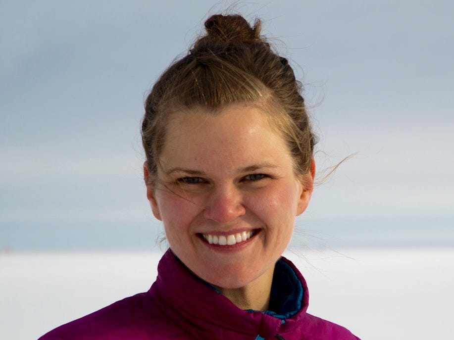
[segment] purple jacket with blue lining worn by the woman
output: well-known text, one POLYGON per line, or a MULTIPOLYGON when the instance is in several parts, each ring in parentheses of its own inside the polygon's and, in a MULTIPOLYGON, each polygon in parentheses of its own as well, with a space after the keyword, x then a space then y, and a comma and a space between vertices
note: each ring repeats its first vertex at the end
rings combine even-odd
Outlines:
POLYGON ((195 277, 169 249, 148 292, 60 326, 39 340, 358 340, 306 313, 309 295, 292 262, 276 263, 270 310, 243 310, 195 277))

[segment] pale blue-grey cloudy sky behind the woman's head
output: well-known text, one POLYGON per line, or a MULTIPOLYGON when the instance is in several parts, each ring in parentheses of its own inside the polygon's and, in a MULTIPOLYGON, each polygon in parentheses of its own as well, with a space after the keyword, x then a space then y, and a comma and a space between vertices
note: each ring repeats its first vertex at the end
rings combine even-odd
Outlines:
MULTIPOLYGON (((2 1, 0 252, 149 249, 140 141, 153 82, 229 7, 2 1)), ((304 85, 318 180, 294 245, 454 244, 451 1, 254 1, 234 10, 304 85)))

